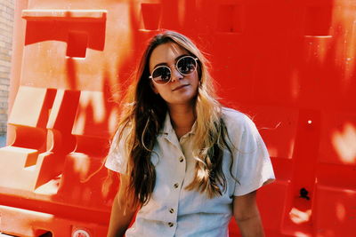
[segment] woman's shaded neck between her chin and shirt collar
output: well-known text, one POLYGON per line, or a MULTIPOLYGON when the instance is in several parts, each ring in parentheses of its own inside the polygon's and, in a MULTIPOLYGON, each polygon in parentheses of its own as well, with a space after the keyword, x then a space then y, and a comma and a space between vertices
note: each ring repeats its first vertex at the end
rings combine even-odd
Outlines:
POLYGON ((178 138, 189 132, 195 122, 195 115, 192 106, 174 105, 169 107, 172 126, 178 138))

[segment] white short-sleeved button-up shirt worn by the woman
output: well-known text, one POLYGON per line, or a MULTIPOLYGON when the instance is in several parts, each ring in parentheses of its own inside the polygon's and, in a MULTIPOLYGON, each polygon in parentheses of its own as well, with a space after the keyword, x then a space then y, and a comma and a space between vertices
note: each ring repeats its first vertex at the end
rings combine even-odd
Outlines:
MULTIPOLYGON (((234 147, 223 152, 223 173, 227 181, 222 196, 188 191, 194 178, 196 161, 192 156, 195 124, 178 139, 169 114, 151 154, 156 169, 156 185, 150 201, 137 213, 134 225, 125 236, 229 236, 233 196, 248 194, 274 179, 270 156, 255 123, 247 115, 223 108, 223 121, 234 147), (232 164, 232 165, 231 165, 232 164), (236 182, 231 173, 239 180, 236 182)), ((125 138, 117 135, 105 164, 110 170, 125 173, 125 138)))

